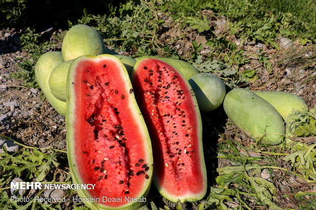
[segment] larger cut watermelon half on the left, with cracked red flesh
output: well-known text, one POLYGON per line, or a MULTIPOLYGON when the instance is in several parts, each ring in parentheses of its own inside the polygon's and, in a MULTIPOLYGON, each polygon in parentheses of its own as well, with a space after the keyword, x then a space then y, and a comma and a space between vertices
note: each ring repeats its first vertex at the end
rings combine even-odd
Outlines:
POLYGON ((118 58, 108 54, 76 58, 67 75, 66 102, 72 180, 96 184, 95 190, 77 190, 78 195, 100 197, 101 202, 85 202, 92 209, 137 209, 141 200, 102 202, 103 196, 123 200, 128 196, 142 198, 147 195, 152 179, 150 137, 125 67, 118 58), (137 170, 144 174, 138 174, 137 170))

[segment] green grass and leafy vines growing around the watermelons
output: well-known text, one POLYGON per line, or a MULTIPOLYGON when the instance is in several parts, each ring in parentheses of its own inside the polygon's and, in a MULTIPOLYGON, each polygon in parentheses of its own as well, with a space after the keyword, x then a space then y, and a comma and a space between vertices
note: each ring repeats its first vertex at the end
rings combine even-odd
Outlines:
MULTIPOLYGON (((11 16, 6 18, 9 17, 9 22, 17 24, 17 21, 24 17, 21 11, 28 9, 28 1, 19 1, 18 4, 9 2, 10 4, 3 7, 3 14, 9 14, 8 8, 11 8, 11 16)), ((3 3, 4 1, 1 1, 0 5, 3 3)), ((78 5, 80 8, 81 6, 78 5)), ((258 78, 254 69, 241 71, 241 67, 250 63, 250 57, 257 59, 262 68, 269 73, 272 71, 272 64, 266 51, 258 50, 255 54, 248 54, 242 47, 243 44, 236 45, 232 37, 242 41, 255 40, 276 50, 279 49, 276 41, 278 36, 299 39, 302 45, 309 46, 300 54, 304 54, 303 51, 306 52, 306 49, 314 48, 316 42, 314 13, 316 6, 314 1, 310 0, 141 0, 120 2, 120 5, 111 2, 102 7, 107 8, 105 13, 87 7, 82 13, 68 16, 63 22, 59 22, 60 17, 58 17, 56 25, 66 24, 66 28, 78 23, 93 26, 100 32, 108 47, 133 57, 161 55, 186 59, 201 72, 220 76, 228 89, 247 86, 258 78), (210 15, 206 13, 209 10, 213 12, 210 15), (222 15, 227 18, 229 29, 218 35, 215 34, 214 26, 210 22, 222 15), (168 17, 172 18, 172 24, 181 28, 180 36, 172 40, 172 43, 161 39, 162 27, 168 17), (179 54, 179 50, 175 48, 176 42, 185 40, 190 33, 207 37, 206 43, 198 44, 191 40, 192 51, 179 54), (204 48, 210 49, 206 55, 201 53, 204 48)), ((37 59, 44 52, 55 49, 54 47, 62 41, 65 34, 54 35, 55 38, 52 40, 41 40, 36 29, 32 26, 28 27, 25 22, 22 24, 24 24, 21 36, 22 49, 29 52, 32 60, 22 61, 19 65, 20 71, 11 76, 24 80, 25 86, 37 87, 34 77, 37 59)), ((291 62, 303 62, 308 66, 313 64, 314 55, 302 57, 293 51, 291 57, 284 56, 285 58, 277 65, 291 62)), ((208 125, 203 130, 204 157, 208 173, 206 196, 198 202, 181 204, 165 202, 154 191, 150 194, 152 197, 148 198, 150 202, 142 209, 169 210, 190 208, 190 206, 199 210, 227 209, 228 206, 234 209, 280 209, 279 204, 284 203, 288 205, 288 209, 312 209, 315 203, 312 197, 315 197, 315 193, 301 191, 299 187, 291 187, 293 183, 289 180, 294 178, 304 186, 314 185, 316 182, 314 145, 289 140, 280 146, 250 144, 250 140, 240 131, 235 130, 235 127, 232 128, 234 131, 227 131, 231 126, 225 124, 227 117, 221 114, 223 112, 221 107, 212 113, 202 113, 203 124, 208 125), (214 139, 219 142, 214 142, 214 139), (218 165, 219 162, 223 163, 221 167, 218 165), (260 175, 263 171, 271 179, 263 178, 260 175), (291 191, 284 192, 282 189, 291 191), (305 199, 306 195, 311 199, 305 199), (291 202, 288 202, 288 198, 292 199, 291 202)), ((8 180, 14 177, 23 176, 25 181, 31 181, 34 178, 42 179, 45 177, 44 174, 54 174, 57 168, 60 169, 61 163, 65 163, 65 154, 58 151, 50 152, 50 156, 47 156, 40 149, 24 146, 13 156, 7 153, 1 155, 3 162, 11 157, 11 162, 0 165, 2 173, 0 182, 3 188, 0 189, 1 197, 7 197, 4 188, 8 186, 8 180), (43 157, 44 161, 38 160, 38 156, 43 157), (48 162, 48 159, 51 161, 48 162), (36 166, 32 163, 36 163, 36 166), (21 171, 19 168, 24 170, 21 171)), ((71 182, 69 178, 64 180, 71 182)), ((67 193, 70 196, 71 192, 67 193)), ((9 203, 10 200, 2 199, 0 207, 5 208, 9 203)), ((42 209, 61 207, 60 204, 47 206, 40 203, 35 203, 34 206, 42 209)), ((22 205, 14 203, 10 207, 16 209, 22 205)), ((82 203, 78 204, 78 208, 80 207, 84 208, 82 203)))

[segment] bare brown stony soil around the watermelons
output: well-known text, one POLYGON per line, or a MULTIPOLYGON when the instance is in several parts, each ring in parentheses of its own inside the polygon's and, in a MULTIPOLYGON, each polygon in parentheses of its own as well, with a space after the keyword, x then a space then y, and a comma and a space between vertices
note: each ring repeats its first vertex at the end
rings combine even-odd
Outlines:
MULTIPOLYGON (((212 11, 203 11, 210 14, 212 11)), ((210 15, 209 15, 210 16, 210 15)), ((203 43, 209 39, 209 34, 198 34, 192 28, 182 28, 174 23, 170 17, 160 18, 165 20, 161 28, 160 43, 169 45, 178 51, 182 57, 190 57, 193 50, 192 41, 203 43), (180 33, 185 36, 178 38, 180 33), (176 40, 176 41, 174 41, 176 40)), ((218 35, 227 32, 227 20, 225 17, 210 19, 212 30, 218 35)), ((45 99, 40 100, 40 90, 23 86, 24 81, 10 77, 13 72, 19 71, 18 64, 24 59, 30 59, 27 51, 21 50, 21 45, 16 37, 20 32, 14 29, 3 30, 10 36, 0 37, 0 135, 10 136, 13 139, 29 146, 40 148, 54 148, 66 151, 66 128, 65 117, 58 114, 45 99), (8 38, 11 37, 11 38, 8 38), (5 102, 16 102, 14 107, 6 106, 5 102)), ((61 31, 54 32, 61 33, 61 31)), ((0 33, 1 34, 1 33, 0 33)), ((315 54, 315 46, 302 46, 299 42, 294 42, 290 48, 280 47, 280 50, 270 48, 264 43, 241 40, 236 37, 230 38, 232 42, 238 44, 240 49, 244 49, 247 54, 255 54, 259 50, 269 56, 272 70, 258 62, 253 56, 248 56, 250 62, 239 68, 240 72, 254 69, 257 79, 250 81, 247 86, 253 91, 285 91, 296 94, 303 98, 308 108, 313 108, 316 103, 316 61, 309 58, 315 54)), ((281 45, 281 43, 280 43, 281 45)), ((61 50, 61 43, 57 44, 54 50, 61 50)), ((202 55, 209 52, 209 48, 201 50, 202 55)), ((128 54, 128 53, 124 53, 128 54)), ((34 61, 36 62, 36 61, 34 61)), ((13 104, 12 103, 12 104, 13 104)), ((216 145, 226 137, 234 138, 245 146, 252 144, 252 140, 239 131, 229 119, 227 119, 223 108, 216 112, 202 113, 203 121, 203 142, 212 139, 213 150, 206 149, 205 156, 217 153, 216 145)), ((315 140, 315 139, 313 139, 315 140)), ((216 160, 217 165, 212 167, 223 167, 231 164, 229 161, 216 160)), ((65 161, 67 165, 67 162, 65 161)), ((211 164, 211 163, 208 163, 211 164)), ((289 167, 284 162, 279 162, 279 167, 289 167)), ((68 172, 67 168, 65 169, 68 172)), ((296 191, 312 190, 311 185, 305 181, 297 180, 297 177, 290 177, 288 174, 278 174, 276 177, 277 196, 280 194, 296 191), (284 179, 294 179, 293 186, 285 186, 284 179), (282 184, 283 183, 283 184, 282 184), (289 189, 291 188, 291 189, 289 189)), ((168 203, 168 201, 163 201, 168 203)), ((278 196, 278 204, 283 207, 297 208, 298 201, 289 196, 281 199, 278 196)), ((168 203, 170 205, 170 203, 168 203)), ((255 203, 254 203, 255 204, 255 203)), ((71 208, 73 203, 65 203, 63 209, 71 208)), ((193 206, 192 206, 193 207, 193 206)))

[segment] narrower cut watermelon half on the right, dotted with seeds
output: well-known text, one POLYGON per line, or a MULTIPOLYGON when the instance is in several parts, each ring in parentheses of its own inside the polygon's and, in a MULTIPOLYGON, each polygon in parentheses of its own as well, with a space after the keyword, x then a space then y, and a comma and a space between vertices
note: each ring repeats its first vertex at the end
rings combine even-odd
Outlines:
POLYGON ((153 57, 138 58, 131 78, 155 148, 157 190, 173 202, 202 199, 207 189, 202 123, 189 82, 173 66, 153 57))

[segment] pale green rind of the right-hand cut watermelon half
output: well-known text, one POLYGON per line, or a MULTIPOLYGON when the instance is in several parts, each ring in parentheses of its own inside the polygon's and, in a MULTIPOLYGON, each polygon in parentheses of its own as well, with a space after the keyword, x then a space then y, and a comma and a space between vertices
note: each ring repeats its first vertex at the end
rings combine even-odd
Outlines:
MULTIPOLYGON (((136 72, 136 70, 138 69, 138 66, 142 63, 142 61, 145 61, 146 59, 157 59, 158 61, 164 61, 164 59, 161 59, 160 57, 155 57, 155 56, 143 56, 143 57, 139 57, 137 59, 137 62, 134 66, 134 69, 133 69, 133 72, 131 74, 131 81, 133 83, 133 78, 134 78, 134 74, 136 72)), ((168 62, 165 62, 167 63, 168 65, 171 65, 170 63, 168 62)), ((172 66, 172 65, 171 65, 172 66)), ((155 185, 155 187, 157 188, 157 190, 159 191, 159 193, 165 197, 166 199, 172 201, 172 202, 177 202, 178 199, 181 201, 181 202, 194 202, 194 201, 198 201, 198 200, 201 200, 205 194, 206 194, 206 190, 207 190, 207 175, 206 175, 206 166, 205 166, 205 162, 204 162, 204 153, 203 153, 203 144, 202 144, 202 119, 201 119, 201 115, 200 115, 200 111, 199 111, 199 107, 198 107, 198 103, 197 103, 197 100, 194 96, 194 92, 193 92, 193 89, 190 85, 190 83, 188 82, 188 80, 186 79, 186 77, 177 69, 175 68, 174 66, 172 66, 174 69, 176 69, 178 72, 179 72, 179 75, 182 76, 182 79, 186 82, 186 84, 188 85, 189 89, 190 89, 190 92, 192 93, 192 98, 193 98, 193 102, 194 102, 194 106, 196 108, 196 113, 197 113, 197 119, 198 119, 198 127, 197 127, 197 130, 198 130, 198 139, 199 139, 199 151, 197 152, 197 154, 199 154, 199 157, 201 157, 201 174, 203 174, 203 180, 201 180, 201 182, 203 182, 203 189, 201 190, 201 192, 199 194, 186 194, 186 195, 183 195, 183 196, 175 196, 175 195, 172 195, 170 193, 167 192, 167 190, 165 189, 164 186, 161 186, 159 184, 159 181, 157 180, 157 177, 156 177, 156 174, 155 172, 153 172, 153 183, 155 185)), ((155 170, 155 169, 154 169, 155 170)))

